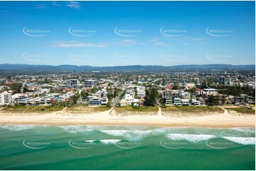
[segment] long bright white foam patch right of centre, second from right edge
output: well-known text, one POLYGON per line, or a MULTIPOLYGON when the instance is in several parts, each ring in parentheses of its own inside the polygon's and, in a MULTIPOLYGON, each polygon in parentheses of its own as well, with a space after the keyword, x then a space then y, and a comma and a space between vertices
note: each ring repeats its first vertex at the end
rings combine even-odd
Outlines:
POLYGON ((165 136, 169 140, 174 140, 174 141, 186 140, 190 142, 205 141, 210 138, 216 137, 213 135, 206 135, 206 134, 166 134, 165 136))

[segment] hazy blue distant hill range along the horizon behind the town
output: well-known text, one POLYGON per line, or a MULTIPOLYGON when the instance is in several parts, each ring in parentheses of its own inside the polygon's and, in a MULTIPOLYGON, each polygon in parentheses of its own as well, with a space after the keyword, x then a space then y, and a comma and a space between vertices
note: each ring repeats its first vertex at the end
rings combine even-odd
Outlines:
POLYGON ((58 71, 101 71, 101 72, 136 72, 136 71, 207 71, 219 70, 245 70, 255 71, 255 65, 205 64, 205 65, 132 65, 132 66, 77 66, 77 65, 32 65, 32 64, 0 64, 0 72, 58 72, 58 71))

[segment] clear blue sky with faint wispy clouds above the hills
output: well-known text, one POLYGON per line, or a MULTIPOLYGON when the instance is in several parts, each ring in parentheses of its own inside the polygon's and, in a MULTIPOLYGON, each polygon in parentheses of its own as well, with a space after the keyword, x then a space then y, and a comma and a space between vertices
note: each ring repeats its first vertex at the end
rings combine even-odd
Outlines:
POLYGON ((0 64, 255 64, 255 1, 0 1, 0 64))

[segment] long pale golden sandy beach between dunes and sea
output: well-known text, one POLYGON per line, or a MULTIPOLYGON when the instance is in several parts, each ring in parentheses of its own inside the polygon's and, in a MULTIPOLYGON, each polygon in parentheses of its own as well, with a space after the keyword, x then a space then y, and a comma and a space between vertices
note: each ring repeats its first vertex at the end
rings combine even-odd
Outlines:
MULTIPOLYGON (((223 108, 222 108, 223 109, 223 108)), ((0 124, 50 124, 50 125, 122 125, 122 124, 146 124, 153 126, 199 126, 199 127, 255 127, 255 114, 238 114, 223 109, 223 113, 211 113, 191 117, 163 116, 159 108, 157 114, 133 114, 119 116, 115 109, 105 112, 72 114, 64 110, 49 114, 24 114, 11 113, 0 115, 0 124)))

